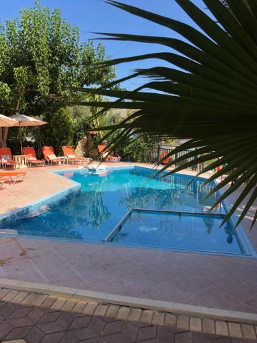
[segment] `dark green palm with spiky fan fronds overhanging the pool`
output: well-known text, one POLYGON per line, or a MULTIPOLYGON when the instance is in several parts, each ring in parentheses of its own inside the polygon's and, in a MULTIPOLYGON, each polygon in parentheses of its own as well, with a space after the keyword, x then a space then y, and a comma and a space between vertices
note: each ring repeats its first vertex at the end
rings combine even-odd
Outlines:
MULTIPOLYGON (((238 219, 239 224, 257 197, 257 0, 228 0, 225 5, 219 0, 204 0, 215 19, 190 0, 175 1, 201 32, 180 21, 131 5, 106 1, 121 10, 169 27, 171 34, 177 32, 186 41, 172 36, 105 33, 108 37, 104 39, 153 43, 177 52, 160 51, 104 62, 102 65, 158 58, 169 62, 170 67, 137 69, 133 75, 99 88, 95 93, 117 97, 117 101, 99 102, 97 106, 136 109, 119 125, 105 128, 122 129, 113 141, 114 145, 135 134, 158 135, 164 139, 191 138, 171 152, 175 156, 182 150, 191 150, 175 159, 175 163, 182 162, 182 165, 172 172, 210 160, 214 161, 199 174, 223 165, 208 179, 210 182, 225 176, 210 194, 230 185, 235 178, 237 181, 222 193, 213 207, 243 186, 224 220, 227 221, 249 196, 238 219), (151 80, 134 91, 112 90, 114 84, 139 75, 151 80), (129 101, 123 102, 123 99, 129 101), (186 159, 192 156, 196 159, 187 162, 186 159)), ((88 89, 81 91, 90 92, 88 89)), ((90 102, 83 104, 95 106, 90 102)), ((252 226, 256 220, 257 211, 252 226)))

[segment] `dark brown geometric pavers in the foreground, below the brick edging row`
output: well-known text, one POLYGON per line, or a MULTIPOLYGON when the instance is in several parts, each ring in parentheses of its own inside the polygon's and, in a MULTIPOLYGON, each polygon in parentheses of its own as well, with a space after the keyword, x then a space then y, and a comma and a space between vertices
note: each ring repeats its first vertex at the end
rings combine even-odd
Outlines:
MULTIPOLYGON (((31 299, 27 300, 27 303, 33 301, 32 297, 34 294, 30 294, 30 296, 31 299)), ((75 312, 75 308, 71 303, 71 300, 70 302, 69 300, 66 301, 66 308, 70 308, 71 311, 60 311, 59 309, 26 305, 24 304, 24 301, 23 304, 2 301, 0 303, 0 342, 22 339, 27 343, 256 342, 256 340, 247 340, 243 338, 236 339, 221 335, 193 332, 185 329, 178 329, 178 327, 171 327, 170 325, 160 326, 140 322, 140 320, 138 320, 138 322, 132 322, 129 320, 101 316, 101 314, 107 315, 105 305, 95 305, 95 309, 91 309, 95 315, 85 313, 85 310, 84 313, 78 313, 75 312), (99 316, 96 315, 96 309, 98 309, 99 316)), ((61 304, 59 303, 59 307, 60 306, 61 304)), ((80 304, 80 307, 83 307, 82 303, 80 304)), ((84 307, 87 307, 86 303, 84 304, 84 307)), ((56 308, 58 308, 57 305, 56 308)), ((90 312, 90 309, 88 308, 86 311, 90 312)), ((109 312, 110 315, 111 312, 114 314, 114 307, 109 307, 109 312), (110 309, 112 311, 110 311, 110 309)), ((123 314, 123 316, 124 315, 125 314, 123 314)), ((117 313, 115 316, 117 316, 117 313)), ((136 312, 134 312, 134 316, 136 316, 136 312)), ((158 318, 156 318, 156 320, 158 320, 158 318)))

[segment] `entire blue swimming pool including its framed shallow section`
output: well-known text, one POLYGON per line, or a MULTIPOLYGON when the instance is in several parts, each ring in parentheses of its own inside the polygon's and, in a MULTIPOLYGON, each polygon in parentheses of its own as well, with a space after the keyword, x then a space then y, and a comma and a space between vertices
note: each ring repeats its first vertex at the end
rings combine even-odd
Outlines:
POLYGON ((213 215, 201 216, 151 211, 140 212, 138 217, 134 211, 119 235, 106 239, 131 209, 207 213, 215 202, 216 195, 204 202, 215 185, 204 186, 204 178, 193 180, 181 174, 160 178, 154 172, 134 166, 106 169, 99 175, 86 169, 58 172, 77 182, 79 191, 46 202, 39 213, 37 205, 29 213, 7 218, 0 222, 1 230, 19 236, 247 255, 231 223, 219 229, 225 213, 222 206, 213 215))

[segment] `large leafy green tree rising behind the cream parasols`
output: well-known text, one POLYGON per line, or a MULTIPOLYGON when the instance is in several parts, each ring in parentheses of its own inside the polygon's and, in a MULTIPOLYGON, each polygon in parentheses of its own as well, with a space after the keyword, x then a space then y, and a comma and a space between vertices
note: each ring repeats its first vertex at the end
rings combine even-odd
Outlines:
MULTIPOLYGON (((105 49, 92 40, 79 43, 79 29, 36 1, 21 18, 0 25, 0 113, 51 115, 80 95, 74 86, 102 85, 114 78, 114 67, 92 67, 106 60, 105 49)), ((55 122, 55 119, 53 119, 55 122)), ((0 146, 8 129, 0 128, 0 146)))

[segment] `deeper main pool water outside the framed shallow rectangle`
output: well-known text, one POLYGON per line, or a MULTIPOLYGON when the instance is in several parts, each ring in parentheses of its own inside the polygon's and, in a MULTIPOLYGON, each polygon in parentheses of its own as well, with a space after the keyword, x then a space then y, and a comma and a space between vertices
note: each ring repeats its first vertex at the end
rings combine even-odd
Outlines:
MULTIPOLYGON (((16 230, 19 235, 101 241, 132 208, 206 212, 216 200, 213 195, 204 202, 214 187, 214 184, 203 187, 204 178, 194 179, 187 187, 191 176, 174 174, 159 178, 153 177, 154 172, 143 167, 110 169, 103 175, 90 175, 85 169, 63 172, 62 176, 81 184, 79 192, 49 204, 49 211, 35 217, 18 217, 5 222, 1 228, 16 230)), ((213 210, 214 213, 222 211, 219 206, 213 210)), ((218 230, 215 222, 207 217, 201 222, 208 239, 212 239, 213 232, 218 235, 228 230, 218 230)), ((231 231, 231 235, 224 234, 222 239, 231 244, 233 235, 231 231)), ((185 237, 183 233, 182 238, 185 237)))

